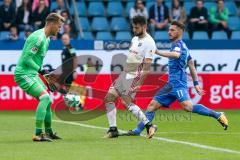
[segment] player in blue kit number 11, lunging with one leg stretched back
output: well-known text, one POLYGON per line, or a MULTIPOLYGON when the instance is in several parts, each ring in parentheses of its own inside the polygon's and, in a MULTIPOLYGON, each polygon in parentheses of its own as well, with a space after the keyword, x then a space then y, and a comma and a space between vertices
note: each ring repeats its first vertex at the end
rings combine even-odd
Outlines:
MULTIPOLYGON (((156 54, 169 58, 168 83, 153 97, 152 101, 148 105, 145 115, 149 121, 152 121, 157 109, 160 107, 169 107, 174 101, 178 100, 184 110, 197 113, 199 115, 213 117, 218 120, 224 130, 227 130, 228 120, 223 112, 216 112, 202 104, 192 104, 188 93, 186 73, 186 67, 188 65, 188 61, 191 60, 191 56, 189 55, 189 50, 186 44, 182 41, 184 29, 184 24, 173 21, 168 31, 169 38, 172 41, 170 52, 156 51, 156 54)), ((191 75, 194 80, 195 89, 198 94, 203 95, 204 91, 198 84, 197 74, 194 75, 194 73, 191 73, 191 75)), ((130 130, 126 135, 140 135, 143 130, 144 124, 139 122, 138 127, 135 130, 130 130)))

